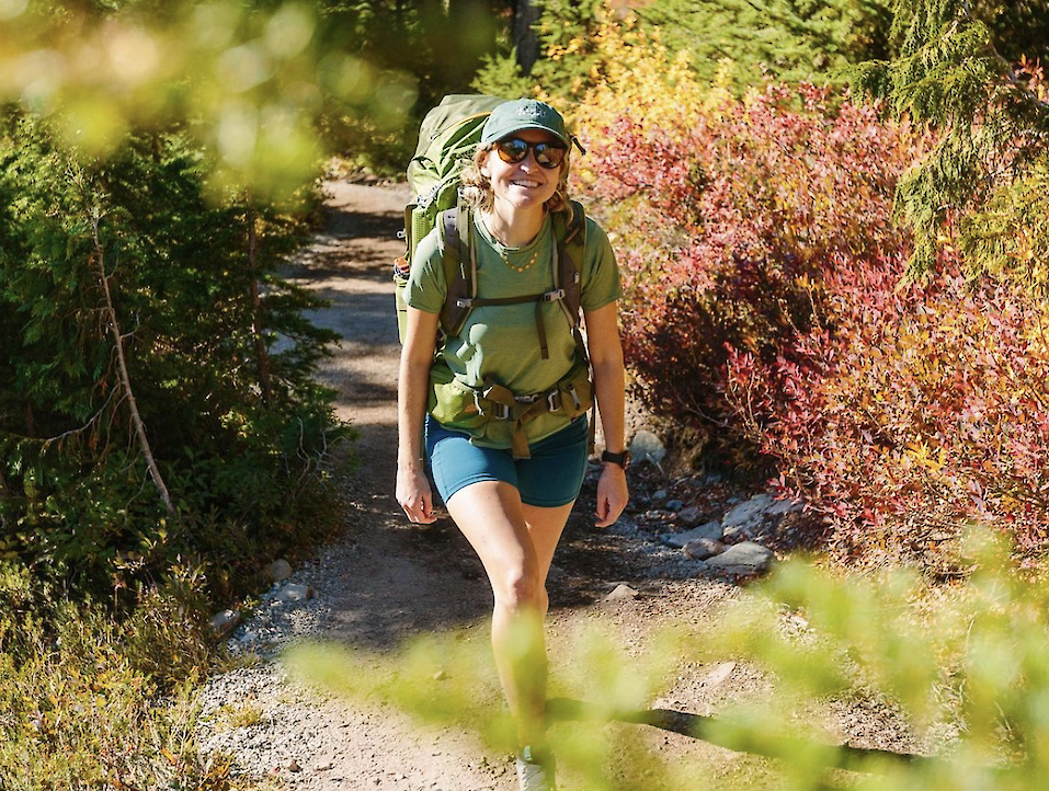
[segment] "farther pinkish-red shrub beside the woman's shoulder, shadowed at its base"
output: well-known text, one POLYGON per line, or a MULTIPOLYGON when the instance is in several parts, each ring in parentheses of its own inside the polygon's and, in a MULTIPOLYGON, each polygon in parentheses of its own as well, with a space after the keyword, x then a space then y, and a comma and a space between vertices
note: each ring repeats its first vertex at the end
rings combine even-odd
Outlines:
POLYGON ((593 147, 595 195, 628 251, 624 344, 640 396, 736 465, 757 455, 723 396, 728 349, 800 359, 833 262, 905 252, 890 213, 914 142, 830 99, 769 87, 676 129, 620 119, 593 147))

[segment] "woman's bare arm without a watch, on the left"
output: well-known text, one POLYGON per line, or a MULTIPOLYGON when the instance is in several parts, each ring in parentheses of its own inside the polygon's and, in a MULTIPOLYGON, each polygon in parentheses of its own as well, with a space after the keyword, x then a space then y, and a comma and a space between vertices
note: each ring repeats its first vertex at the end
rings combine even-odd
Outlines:
POLYGON ((430 392, 430 366, 437 337, 436 313, 408 309, 408 332, 397 380, 397 502, 412 521, 429 524, 433 492, 422 460, 422 426, 430 392))

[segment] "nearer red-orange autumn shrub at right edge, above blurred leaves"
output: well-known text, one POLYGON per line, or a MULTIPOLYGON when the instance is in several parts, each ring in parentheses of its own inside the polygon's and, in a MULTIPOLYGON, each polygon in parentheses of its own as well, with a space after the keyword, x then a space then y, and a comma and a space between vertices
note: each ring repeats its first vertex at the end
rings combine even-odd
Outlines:
POLYGON ((826 516, 840 557, 950 571, 979 521, 1035 559, 1049 516, 1049 344, 1039 309, 1010 285, 865 264, 826 280, 835 331, 799 340, 803 363, 733 354, 729 400, 826 516))

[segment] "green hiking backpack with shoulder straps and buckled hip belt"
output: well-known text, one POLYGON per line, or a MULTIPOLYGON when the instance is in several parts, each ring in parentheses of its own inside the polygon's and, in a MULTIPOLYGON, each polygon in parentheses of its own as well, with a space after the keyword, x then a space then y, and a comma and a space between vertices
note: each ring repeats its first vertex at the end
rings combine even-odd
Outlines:
MULTIPOLYGON (((449 95, 423 119, 415 154, 408 165, 408 183, 413 198, 404 208, 406 252, 403 257, 394 263, 395 301, 398 334, 403 343, 408 317, 403 291, 411 272, 412 259, 419 242, 440 222, 440 248, 445 283, 448 285, 445 305, 441 310, 443 337, 457 336, 476 307, 535 302, 537 341, 540 354, 546 358, 547 336, 540 309, 544 303, 552 301, 561 306, 579 349, 577 366, 573 366, 573 371, 578 372, 572 377, 573 381, 558 382, 546 393, 527 394, 514 394, 502 386, 487 383, 475 394, 471 403, 466 403, 469 399, 463 399, 461 405, 441 404, 440 409, 435 403, 430 404, 432 413, 459 413, 470 422, 477 419, 512 421, 514 457, 527 458, 528 449, 523 431, 527 421, 544 410, 563 410, 567 415, 575 416, 593 405, 586 347, 580 332, 579 318, 580 272, 586 244, 586 217, 583 207, 574 200, 570 204, 570 213, 557 213, 551 217, 556 244, 550 262, 550 289, 541 294, 499 299, 486 299, 483 295, 478 295, 474 220, 470 209, 459 202, 459 175, 477 150, 488 115, 503 101, 505 100, 484 95, 449 95), (489 398, 494 393, 499 397, 489 398), (580 394, 583 394, 582 400, 580 394), (482 406, 487 409, 482 410, 482 406)), ((440 347, 437 351, 440 352, 440 347)), ((434 397, 447 398, 441 388, 432 393, 432 401, 434 397)), ((591 421, 591 449, 593 428, 591 421)))

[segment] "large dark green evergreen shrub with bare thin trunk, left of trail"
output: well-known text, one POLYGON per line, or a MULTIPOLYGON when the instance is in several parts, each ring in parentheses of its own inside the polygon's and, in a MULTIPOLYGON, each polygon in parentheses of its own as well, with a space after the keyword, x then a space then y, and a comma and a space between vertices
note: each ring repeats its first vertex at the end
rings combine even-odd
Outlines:
POLYGON ((303 546, 300 516, 334 524, 320 504, 349 432, 311 378, 334 335, 277 275, 312 195, 292 211, 216 193, 178 129, 105 162, 28 116, 2 135, 4 552, 75 598, 195 557, 228 598, 303 546))

